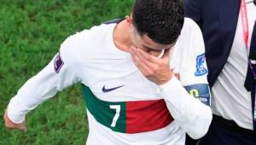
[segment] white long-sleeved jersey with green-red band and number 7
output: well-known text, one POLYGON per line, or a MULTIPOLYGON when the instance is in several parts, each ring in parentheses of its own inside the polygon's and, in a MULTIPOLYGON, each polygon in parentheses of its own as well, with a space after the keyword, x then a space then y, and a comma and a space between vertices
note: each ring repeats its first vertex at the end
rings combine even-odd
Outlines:
POLYGON ((212 112, 204 104, 210 103, 207 66, 203 38, 195 22, 185 18, 171 54, 171 67, 180 74, 180 81, 173 76, 160 86, 140 73, 129 53, 115 47, 115 26, 93 26, 67 38, 49 65, 9 102, 9 119, 23 121, 38 104, 80 82, 89 120, 89 145, 178 145, 184 144, 185 131, 193 138, 204 136, 212 112))

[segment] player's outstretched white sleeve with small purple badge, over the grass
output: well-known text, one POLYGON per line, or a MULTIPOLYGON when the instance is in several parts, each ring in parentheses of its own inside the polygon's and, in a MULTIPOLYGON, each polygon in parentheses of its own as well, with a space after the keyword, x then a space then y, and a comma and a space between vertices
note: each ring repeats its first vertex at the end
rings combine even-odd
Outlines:
MULTIPOLYGON (((64 53, 64 52, 63 52, 64 53)), ((8 117, 14 123, 25 120, 26 113, 55 96, 57 91, 79 82, 75 68, 61 58, 61 53, 48 66, 24 84, 8 105, 8 117)))

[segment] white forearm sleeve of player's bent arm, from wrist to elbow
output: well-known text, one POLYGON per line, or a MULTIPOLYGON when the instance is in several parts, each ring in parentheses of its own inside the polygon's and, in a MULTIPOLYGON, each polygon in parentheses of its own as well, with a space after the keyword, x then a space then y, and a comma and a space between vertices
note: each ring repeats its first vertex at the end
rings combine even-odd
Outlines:
POLYGON ((160 95, 184 131, 192 138, 200 138, 207 133, 212 121, 212 110, 189 93, 174 76, 166 84, 160 85, 160 95))

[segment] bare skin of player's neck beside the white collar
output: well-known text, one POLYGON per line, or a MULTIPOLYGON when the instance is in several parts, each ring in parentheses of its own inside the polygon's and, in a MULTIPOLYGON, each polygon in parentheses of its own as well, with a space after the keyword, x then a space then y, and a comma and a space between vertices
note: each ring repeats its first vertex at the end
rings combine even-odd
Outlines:
POLYGON ((126 20, 119 22, 113 29, 113 43, 115 46, 125 52, 128 52, 131 47, 131 39, 129 35, 130 26, 126 20))

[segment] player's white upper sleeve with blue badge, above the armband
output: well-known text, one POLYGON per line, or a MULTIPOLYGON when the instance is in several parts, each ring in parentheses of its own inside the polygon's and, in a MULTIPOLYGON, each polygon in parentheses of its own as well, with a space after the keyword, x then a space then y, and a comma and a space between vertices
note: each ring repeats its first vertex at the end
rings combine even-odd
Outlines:
POLYGON ((207 66, 205 63, 205 45, 201 30, 194 20, 185 18, 183 30, 175 45, 172 64, 181 72, 184 84, 193 83, 194 79, 206 82, 207 66), (200 72, 201 71, 201 72, 200 72), (199 77, 198 77, 199 76, 199 77))

